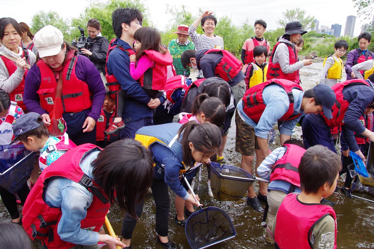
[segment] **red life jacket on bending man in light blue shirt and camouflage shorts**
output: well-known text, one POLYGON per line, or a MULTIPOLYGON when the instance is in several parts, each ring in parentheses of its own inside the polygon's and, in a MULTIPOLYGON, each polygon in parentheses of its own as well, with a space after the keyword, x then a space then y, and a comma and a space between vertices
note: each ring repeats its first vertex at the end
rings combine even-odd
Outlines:
MULTIPOLYGON (((269 70, 269 69, 268 69, 269 70)), ((269 71, 268 71, 269 72, 269 71)), ((260 121, 261 115, 265 110, 266 105, 264 104, 264 100, 262 98, 262 91, 267 85, 277 84, 286 91, 289 99, 289 108, 288 111, 279 119, 279 120, 291 120, 295 119, 300 114, 292 115, 294 113, 294 95, 292 94, 292 88, 297 88, 300 91, 303 91, 300 85, 293 83, 289 80, 284 79, 273 79, 265 81, 264 83, 255 85, 254 87, 249 88, 242 99, 243 111, 245 114, 251 118, 253 121, 258 123, 260 121)))

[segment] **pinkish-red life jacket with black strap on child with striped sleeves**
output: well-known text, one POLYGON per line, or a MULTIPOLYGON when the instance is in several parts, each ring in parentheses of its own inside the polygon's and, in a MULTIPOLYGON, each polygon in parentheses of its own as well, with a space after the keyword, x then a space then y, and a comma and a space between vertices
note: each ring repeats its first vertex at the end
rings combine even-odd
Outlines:
POLYGON ((270 181, 283 180, 300 187, 299 164, 305 149, 295 144, 285 144, 286 152, 276 161, 270 174, 270 181))

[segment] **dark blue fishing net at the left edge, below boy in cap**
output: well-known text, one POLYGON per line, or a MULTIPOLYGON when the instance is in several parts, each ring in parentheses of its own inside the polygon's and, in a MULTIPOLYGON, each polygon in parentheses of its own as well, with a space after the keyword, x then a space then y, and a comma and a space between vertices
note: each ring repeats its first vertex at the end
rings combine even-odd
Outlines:
POLYGON ((0 146, 0 186, 18 192, 30 178, 36 153, 23 145, 0 146))

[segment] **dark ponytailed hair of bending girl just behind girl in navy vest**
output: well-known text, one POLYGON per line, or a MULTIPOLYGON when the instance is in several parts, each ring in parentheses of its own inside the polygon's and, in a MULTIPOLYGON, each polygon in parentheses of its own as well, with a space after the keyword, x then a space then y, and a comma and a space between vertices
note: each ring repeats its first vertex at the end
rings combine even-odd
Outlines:
POLYGON ((191 106, 193 115, 204 114, 207 121, 217 125, 223 124, 226 117, 226 110, 220 99, 217 97, 209 97, 208 94, 199 94, 191 106))

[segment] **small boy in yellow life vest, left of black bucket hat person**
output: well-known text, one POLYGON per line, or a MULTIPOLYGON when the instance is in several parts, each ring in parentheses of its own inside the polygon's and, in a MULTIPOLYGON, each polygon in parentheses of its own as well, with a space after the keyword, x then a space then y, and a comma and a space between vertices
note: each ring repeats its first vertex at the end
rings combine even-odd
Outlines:
POLYGON ((267 73, 267 49, 264 46, 257 46, 253 49, 254 62, 249 63, 245 71, 246 90, 266 81, 267 73))

